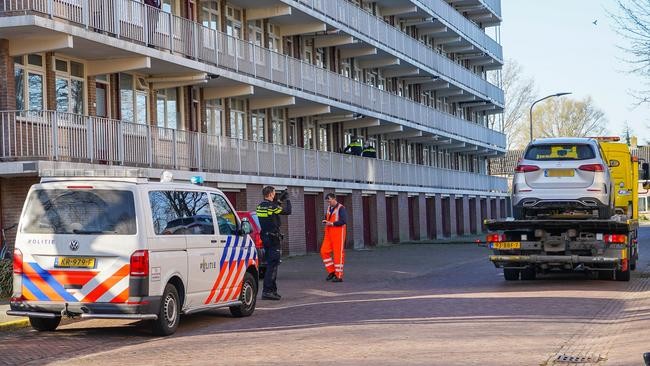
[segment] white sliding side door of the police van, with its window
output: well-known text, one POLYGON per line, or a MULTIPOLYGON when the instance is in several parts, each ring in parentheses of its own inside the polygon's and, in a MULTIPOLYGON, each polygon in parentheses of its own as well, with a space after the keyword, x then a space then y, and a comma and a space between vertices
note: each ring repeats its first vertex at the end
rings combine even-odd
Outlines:
POLYGON ((219 273, 222 248, 208 192, 184 192, 187 215, 187 302, 185 308, 205 306, 205 298, 219 273))

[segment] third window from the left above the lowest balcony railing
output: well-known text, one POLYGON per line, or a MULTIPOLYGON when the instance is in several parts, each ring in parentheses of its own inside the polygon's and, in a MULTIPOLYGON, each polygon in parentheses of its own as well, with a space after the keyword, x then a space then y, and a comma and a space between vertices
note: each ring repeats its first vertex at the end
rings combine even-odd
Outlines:
POLYGON ((147 124, 149 85, 144 78, 120 74, 120 116, 123 121, 147 124))

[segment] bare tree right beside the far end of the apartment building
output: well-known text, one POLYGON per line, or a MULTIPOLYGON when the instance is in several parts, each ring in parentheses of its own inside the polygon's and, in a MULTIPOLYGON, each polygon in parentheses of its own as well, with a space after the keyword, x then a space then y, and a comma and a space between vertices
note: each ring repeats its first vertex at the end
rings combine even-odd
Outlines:
MULTIPOLYGON (((498 75, 491 76, 491 82, 498 85, 498 75)), ((497 126, 495 118, 489 123, 491 128, 499 127, 500 131, 508 137, 507 148, 519 148, 525 146, 526 139, 525 122, 528 121, 528 108, 535 100, 535 82, 526 78, 523 69, 515 60, 506 60, 501 71, 501 86, 505 94, 505 108, 503 112, 503 124, 497 126)))

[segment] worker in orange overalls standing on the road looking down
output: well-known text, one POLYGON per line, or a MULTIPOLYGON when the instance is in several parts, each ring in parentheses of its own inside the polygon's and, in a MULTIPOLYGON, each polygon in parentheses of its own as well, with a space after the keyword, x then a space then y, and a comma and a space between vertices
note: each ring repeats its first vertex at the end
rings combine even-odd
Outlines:
POLYGON ((320 256, 327 270, 326 281, 343 282, 343 263, 345 263, 345 232, 347 212, 345 207, 338 203, 333 193, 325 196, 327 210, 325 211, 325 237, 320 248, 320 256), (334 259, 332 259, 332 253, 334 259))

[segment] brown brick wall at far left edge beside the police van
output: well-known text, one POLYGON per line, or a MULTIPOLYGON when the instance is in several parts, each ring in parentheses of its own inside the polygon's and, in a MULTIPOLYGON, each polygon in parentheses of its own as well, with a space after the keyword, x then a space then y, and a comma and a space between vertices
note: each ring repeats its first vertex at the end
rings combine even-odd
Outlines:
MULTIPOLYGON (((32 184, 39 182, 36 177, 16 177, 0 179, 0 218, 2 227, 18 223, 27 192, 32 184)), ((7 231, 7 243, 13 250, 16 229, 7 231)))

